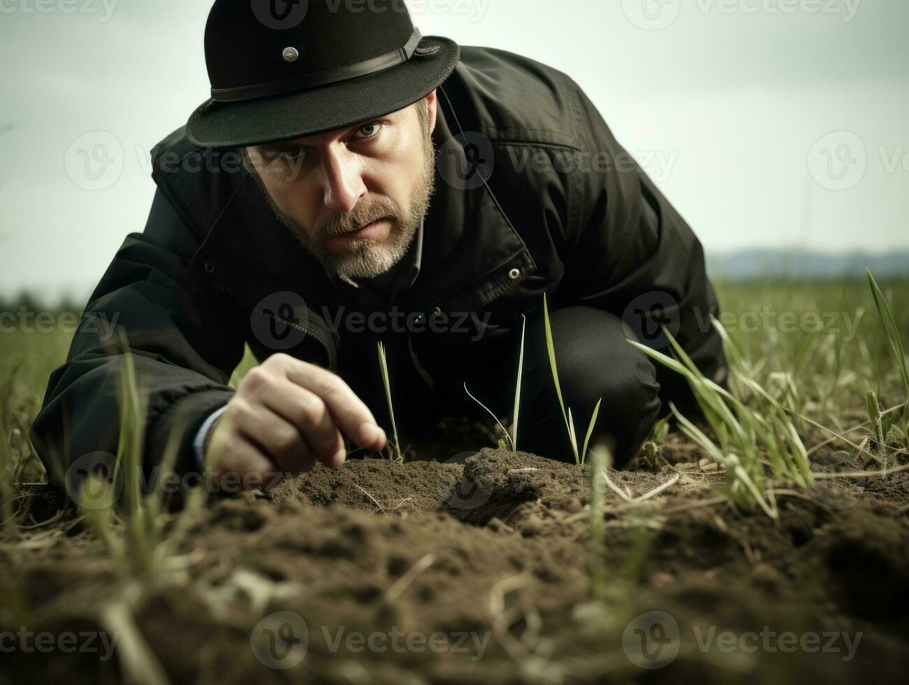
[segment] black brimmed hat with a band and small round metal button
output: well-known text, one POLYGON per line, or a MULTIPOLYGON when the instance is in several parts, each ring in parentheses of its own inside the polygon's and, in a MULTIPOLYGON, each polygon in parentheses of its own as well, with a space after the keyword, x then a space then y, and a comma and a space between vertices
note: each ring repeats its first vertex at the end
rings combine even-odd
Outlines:
POLYGON ((459 56, 454 41, 420 35, 404 0, 216 0, 205 25, 212 97, 186 137, 239 147, 353 126, 425 97, 459 56))

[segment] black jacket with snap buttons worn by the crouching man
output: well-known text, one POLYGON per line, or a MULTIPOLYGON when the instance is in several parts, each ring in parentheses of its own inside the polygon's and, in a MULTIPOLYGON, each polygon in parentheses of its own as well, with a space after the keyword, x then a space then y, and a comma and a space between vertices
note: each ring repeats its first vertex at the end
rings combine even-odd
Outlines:
MULTIPOLYGON (((432 385, 469 364, 521 313, 542 307, 545 292, 551 308, 599 307, 633 328, 642 311, 663 307, 695 363, 722 380, 701 245, 580 86, 523 56, 464 47, 438 96, 436 190, 420 272, 395 300, 425 325, 401 333, 395 347, 419 378, 432 385), (474 314, 465 325, 482 335, 427 326, 425 317, 461 312, 474 314)), ((118 316, 128 335, 148 398, 147 464, 178 431, 178 467, 188 467, 197 428, 232 396, 227 383, 245 343, 260 359, 284 351, 339 373, 345 360, 377 366, 375 337, 361 345, 326 320, 337 307, 368 313, 375 305, 338 287, 296 243, 236 151, 195 148, 181 128, 152 158, 157 190, 145 231, 125 238, 95 288, 35 419, 35 446, 57 483, 75 458, 116 452, 124 357, 95 317, 118 316), (281 338, 281 329, 294 335, 281 338)), ((345 380, 362 392, 377 378, 355 377, 345 380)), ((661 371, 660 379, 664 397, 683 392, 677 378, 661 371)))

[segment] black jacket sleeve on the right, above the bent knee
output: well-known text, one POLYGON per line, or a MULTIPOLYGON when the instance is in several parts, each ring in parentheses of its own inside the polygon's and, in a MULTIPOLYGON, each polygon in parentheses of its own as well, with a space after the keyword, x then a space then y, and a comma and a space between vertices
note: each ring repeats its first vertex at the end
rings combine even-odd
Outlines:
MULTIPOLYGON (((574 89, 584 154, 571 179, 581 210, 568 235, 570 299, 621 317, 634 337, 668 354, 664 326, 704 375, 724 383, 722 339, 710 323, 718 304, 700 241, 582 89, 574 89)), ((660 367, 657 379, 664 399, 692 406, 684 378, 660 367)))

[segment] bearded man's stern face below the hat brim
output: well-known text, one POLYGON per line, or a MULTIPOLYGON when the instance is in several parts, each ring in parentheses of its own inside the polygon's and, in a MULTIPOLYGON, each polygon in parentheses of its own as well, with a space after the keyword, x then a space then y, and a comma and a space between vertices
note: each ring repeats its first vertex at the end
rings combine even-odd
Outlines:
POLYGON ((344 129, 245 148, 275 215, 325 268, 385 273, 404 257, 435 181, 435 91, 344 129))

